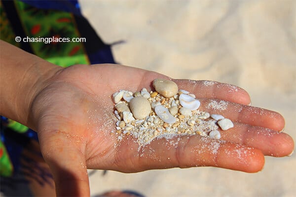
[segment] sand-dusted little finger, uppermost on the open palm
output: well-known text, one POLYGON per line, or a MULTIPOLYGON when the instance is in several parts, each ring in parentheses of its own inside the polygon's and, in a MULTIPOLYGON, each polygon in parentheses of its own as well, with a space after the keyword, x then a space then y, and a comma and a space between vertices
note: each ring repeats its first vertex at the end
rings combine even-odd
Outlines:
POLYGON ((205 80, 176 80, 176 83, 179 89, 189 91, 196 98, 221 99, 244 105, 251 102, 249 94, 234 85, 205 80))

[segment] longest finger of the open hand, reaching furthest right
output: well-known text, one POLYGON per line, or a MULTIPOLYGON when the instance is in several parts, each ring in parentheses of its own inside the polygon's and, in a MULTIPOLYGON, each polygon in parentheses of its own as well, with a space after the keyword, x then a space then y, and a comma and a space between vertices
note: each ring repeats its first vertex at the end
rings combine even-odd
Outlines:
POLYGON ((257 148, 264 155, 273 157, 284 157, 294 150, 294 141, 288 134, 240 123, 221 131, 221 139, 257 148))

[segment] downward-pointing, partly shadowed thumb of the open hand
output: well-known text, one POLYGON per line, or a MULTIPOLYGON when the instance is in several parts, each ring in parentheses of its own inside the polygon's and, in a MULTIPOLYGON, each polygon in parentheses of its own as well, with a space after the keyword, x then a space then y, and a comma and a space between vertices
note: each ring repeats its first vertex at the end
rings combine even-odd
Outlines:
POLYGON ((80 147, 61 131, 50 135, 40 136, 39 141, 54 178, 57 196, 90 196, 85 157, 80 147))

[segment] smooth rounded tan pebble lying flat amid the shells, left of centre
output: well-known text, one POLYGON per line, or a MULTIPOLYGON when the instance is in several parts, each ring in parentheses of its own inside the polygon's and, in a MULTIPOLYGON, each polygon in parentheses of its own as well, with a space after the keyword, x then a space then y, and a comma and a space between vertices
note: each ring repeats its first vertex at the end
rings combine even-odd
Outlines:
POLYGON ((144 119, 151 112, 151 105, 144 97, 135 97, 130 101, 130 109, 136 119, 144 119))

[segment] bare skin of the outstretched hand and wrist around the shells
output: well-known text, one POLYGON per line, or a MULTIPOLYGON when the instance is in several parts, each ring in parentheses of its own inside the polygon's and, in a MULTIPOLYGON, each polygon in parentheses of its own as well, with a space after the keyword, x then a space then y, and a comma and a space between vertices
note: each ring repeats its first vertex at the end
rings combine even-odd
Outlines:
POLYGON ((181 136, 177 147, 166 139, 155 139, 138 150, 132 137, 114 146, 117 138, 110 132, 115 124, 109 124, 114 117, 111 95, 120 89, 151 90, 154 79, 169 77, 121 65, 62 68, 4 41, 0 42, 0 61, 0 114, 37 131, 59 196, 89 196, 87 168, 129 173, 215 166, 257 172, 264 165, 264 155, 283 157, 294 149, 293 139, 280 132, 284 118, 249 106, 250 97, 243 89, 231 91, 233 86, 218 82, 205 86, 204 81, 176 79, 172 80, 180 89, 201 101, 200 110, 231 119, 234 128, 223 132, 221 140, 181 136), (207 108, 212 100, 227 101, 227 110, 207 108), (215 153, 213 144, 218 144, 215 153))

